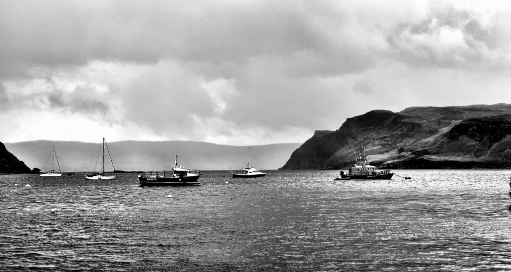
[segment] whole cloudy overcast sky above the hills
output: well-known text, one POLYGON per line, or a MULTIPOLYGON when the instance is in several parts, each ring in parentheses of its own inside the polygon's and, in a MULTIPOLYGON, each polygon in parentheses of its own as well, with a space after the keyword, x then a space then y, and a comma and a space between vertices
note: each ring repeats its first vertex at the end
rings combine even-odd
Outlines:
POLYGON ((507 1, 0 1, 0 142, 304 142, 511 103, 507 1))

